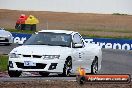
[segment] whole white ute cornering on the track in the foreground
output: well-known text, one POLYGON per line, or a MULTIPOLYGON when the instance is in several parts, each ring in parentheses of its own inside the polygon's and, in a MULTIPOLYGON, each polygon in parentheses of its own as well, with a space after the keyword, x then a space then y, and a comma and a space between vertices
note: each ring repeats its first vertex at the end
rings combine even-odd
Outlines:
POLYGON ((39 72, 69 76, 78 67, 96 74, 101 69, 102 51, 98 45, 87 44, 78 32, 42 30, 9 54, 8 74, 19 77, 22 72, 39 72))

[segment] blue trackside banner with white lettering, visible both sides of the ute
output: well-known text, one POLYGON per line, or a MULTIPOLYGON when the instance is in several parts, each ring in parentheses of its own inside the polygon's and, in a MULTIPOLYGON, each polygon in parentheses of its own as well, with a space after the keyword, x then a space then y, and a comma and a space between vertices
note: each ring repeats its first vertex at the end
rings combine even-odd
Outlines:
MULTIPOLYGON (((24 42, 31 34, 12 33, 14 43, 24 42)), ((111 38, 88 38, 84 37, 87 43, 98 44, 102 48, 132 50, 132 39, 111 39, 111 38)))

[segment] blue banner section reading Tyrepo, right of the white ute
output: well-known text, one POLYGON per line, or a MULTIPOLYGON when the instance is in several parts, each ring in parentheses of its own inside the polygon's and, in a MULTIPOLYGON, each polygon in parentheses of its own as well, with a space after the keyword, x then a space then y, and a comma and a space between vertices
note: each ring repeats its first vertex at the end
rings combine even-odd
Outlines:
POLYGON ((131 39, 111 39, 111 38, 87 38, 87 43, 98 44, 102 48, 109 49, 121 49, 121 50, 132 50, 131 39))

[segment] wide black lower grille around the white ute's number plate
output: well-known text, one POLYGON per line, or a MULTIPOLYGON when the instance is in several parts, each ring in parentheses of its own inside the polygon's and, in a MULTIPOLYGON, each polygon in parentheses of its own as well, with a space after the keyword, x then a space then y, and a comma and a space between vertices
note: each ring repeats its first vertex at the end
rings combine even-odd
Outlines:
POLYGON ((18 68, 22 69, 44 69, 46 64, 36 63, 36 66, 24 66, 24 63, 16 62, 18 68))

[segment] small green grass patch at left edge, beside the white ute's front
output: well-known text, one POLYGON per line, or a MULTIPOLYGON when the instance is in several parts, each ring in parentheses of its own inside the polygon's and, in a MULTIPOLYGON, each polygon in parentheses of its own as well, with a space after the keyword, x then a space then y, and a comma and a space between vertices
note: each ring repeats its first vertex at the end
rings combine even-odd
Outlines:
POLYGON ((0 71, 6 71, 8 64, 8 56, 0 55, 0 71))

